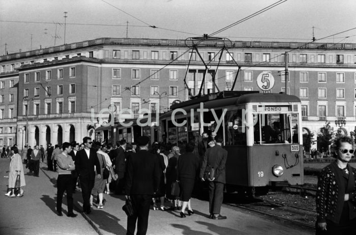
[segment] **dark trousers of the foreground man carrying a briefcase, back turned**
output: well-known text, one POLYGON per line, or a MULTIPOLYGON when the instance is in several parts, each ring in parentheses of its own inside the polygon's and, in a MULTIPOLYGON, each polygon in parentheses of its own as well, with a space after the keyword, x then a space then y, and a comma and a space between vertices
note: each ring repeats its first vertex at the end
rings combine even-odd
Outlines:
POLYGON ((144 235, 149 226, 150 205, 153 195, 131 195, 133 215, 127 218, 127 235, 134 235, 137 221, 136 235, 144 235))

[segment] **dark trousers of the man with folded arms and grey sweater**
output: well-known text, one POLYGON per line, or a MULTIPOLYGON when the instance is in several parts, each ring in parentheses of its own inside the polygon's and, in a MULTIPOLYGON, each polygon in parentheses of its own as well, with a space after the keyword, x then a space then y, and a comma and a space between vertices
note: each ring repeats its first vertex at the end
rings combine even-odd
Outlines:
POLYGON ((58 175, 57 178, 57 212, 62 212, 62 199, 67 191, 68 214, 73 213, 73 179, 71 175, 58 175))

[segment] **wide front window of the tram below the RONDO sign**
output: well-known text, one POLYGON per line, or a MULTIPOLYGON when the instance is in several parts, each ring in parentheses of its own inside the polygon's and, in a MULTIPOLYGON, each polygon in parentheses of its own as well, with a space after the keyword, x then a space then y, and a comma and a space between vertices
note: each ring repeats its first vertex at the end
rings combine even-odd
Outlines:
POLYGON ((298 114, 258 114, 254 144, 298 143, 298 114))

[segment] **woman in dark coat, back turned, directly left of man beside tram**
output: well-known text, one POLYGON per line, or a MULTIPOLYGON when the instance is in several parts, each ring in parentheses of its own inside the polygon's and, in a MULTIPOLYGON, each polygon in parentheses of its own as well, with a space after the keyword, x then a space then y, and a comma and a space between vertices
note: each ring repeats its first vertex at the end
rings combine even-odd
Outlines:
POLYGON ((188 215, 194 214, 190 198, 192 197, 192 191, 194 188, 194 181, 199 169, 199 156, 193 153, 195 144, 189 142, 186 145, 186 152, 179 157, 177 174, 181 182, 181 201, 183 201, 181 218, 186 217, 184 211, 188 205, 188 215))

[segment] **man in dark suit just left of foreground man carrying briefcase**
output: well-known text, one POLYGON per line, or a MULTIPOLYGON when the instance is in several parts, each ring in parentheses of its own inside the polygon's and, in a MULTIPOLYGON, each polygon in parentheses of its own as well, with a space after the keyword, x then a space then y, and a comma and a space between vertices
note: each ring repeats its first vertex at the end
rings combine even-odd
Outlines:
POLYGON ((124 176, 125 176, 125 149, 126 149, 126 140, 122 139, 118 142, 118 147, 115 154, 115 172, 117 174, 115 194, 120 195, 123 193, 124 188, 124 176))

